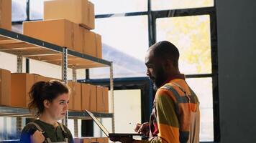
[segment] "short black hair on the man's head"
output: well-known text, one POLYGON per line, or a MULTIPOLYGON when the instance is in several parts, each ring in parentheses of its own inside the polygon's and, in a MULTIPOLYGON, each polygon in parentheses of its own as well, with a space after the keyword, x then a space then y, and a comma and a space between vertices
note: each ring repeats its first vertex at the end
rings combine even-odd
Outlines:
POLYGON ((170 43, 170 41, 159 41, 156 44, 153 44, 150 49, 153 50, 155 57, 163 60, 170 59, 173 61, 173 66, 178 68, 180 53, 178 48, 174 44, 170 43))

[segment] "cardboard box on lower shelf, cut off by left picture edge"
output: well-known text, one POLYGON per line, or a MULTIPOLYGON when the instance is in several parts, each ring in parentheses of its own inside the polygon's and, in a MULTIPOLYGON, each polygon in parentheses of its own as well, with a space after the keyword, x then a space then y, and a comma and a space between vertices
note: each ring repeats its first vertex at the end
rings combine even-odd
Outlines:
POLYGON ((11 71, 0 69, 0 104, 9 106, 11 95, 11 71))

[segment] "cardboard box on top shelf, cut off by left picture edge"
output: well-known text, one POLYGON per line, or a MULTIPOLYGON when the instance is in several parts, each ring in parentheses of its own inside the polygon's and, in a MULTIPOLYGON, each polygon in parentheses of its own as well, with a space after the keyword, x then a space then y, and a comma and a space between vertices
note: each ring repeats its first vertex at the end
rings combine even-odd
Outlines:
POLYGON ((0 0, 0 28, 12 31, 12 0, 0 0))

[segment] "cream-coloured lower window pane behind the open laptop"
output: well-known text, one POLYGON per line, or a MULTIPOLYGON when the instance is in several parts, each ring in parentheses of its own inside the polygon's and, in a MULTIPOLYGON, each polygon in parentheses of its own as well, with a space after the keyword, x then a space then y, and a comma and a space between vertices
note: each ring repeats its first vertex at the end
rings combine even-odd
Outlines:
MULTIPOLYGON (((111 109, 110 104, 109 109, 111 109)), ((142 116, 140 89, 114 90, 114 111, 115 132, 134 133, 134 124, 140 123, 142 116)), ((108 131, 111 132, 111 119, 102 119, 102 124, 106 125, 108 131)), ((105 134, 96 124, 94 124, 94 129, 96 137, 105 137, 105 134)))

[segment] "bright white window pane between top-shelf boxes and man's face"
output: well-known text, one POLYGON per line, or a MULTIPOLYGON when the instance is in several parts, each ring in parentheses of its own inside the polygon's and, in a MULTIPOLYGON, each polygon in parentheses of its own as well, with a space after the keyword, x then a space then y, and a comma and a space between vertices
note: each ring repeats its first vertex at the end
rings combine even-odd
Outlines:
MULTIPOLYGON (((148 48, 147 16, 96 19, 103 58, 114 63, 114 77, 144 77, 148 48)), ((90 69, 90 78, 109 78, 109 68, 90 69)))

